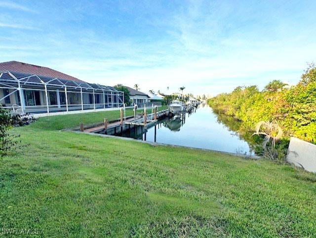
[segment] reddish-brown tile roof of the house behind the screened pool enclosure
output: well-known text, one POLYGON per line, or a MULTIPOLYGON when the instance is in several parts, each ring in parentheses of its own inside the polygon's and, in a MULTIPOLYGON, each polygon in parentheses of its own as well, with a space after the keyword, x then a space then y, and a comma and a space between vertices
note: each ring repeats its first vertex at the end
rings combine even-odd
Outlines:
POLYGON ((84 82, 79 80, 73 76, 68 74, 64 74, 62 72, 43 67, 33 64, 22 63, 18 61, 8 61, 0 63, 0 71, 14 71, 14 72, 21 72, 27 74, 36 74, 39 76, 51 77, 51 78, 58 78, 58 79, 65 79, 65 80, 73 80, 76 82, 84 82))

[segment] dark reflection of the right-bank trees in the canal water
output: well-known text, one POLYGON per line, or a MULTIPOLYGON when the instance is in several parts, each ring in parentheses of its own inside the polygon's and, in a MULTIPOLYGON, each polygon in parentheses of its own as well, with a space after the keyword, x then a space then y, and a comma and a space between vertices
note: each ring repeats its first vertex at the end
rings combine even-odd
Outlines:
MULTIPOLYGON (((214 111, 213 111, 214 112, 214 111)), ((232 132, 234 135, 236 135, 239 139, 246 141, 249 144, 249 147, 252 150, 255 150, 256 146, 259 143, 258 137, 252 137, 253 132, 246 130, 242 126, 242 122, 237 120, 236 118, 232 116, 227 116, 222 113, 216 113, 214 114, 217 116, 217 122, 224 125, 227 130, 232 132)))

